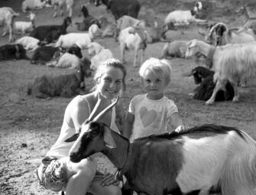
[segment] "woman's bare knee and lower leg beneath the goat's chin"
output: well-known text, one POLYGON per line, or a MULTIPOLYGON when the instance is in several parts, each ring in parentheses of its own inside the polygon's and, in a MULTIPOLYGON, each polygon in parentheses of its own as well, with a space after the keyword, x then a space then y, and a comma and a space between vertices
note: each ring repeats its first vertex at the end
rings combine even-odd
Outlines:
POLYGON ((66 184, 66 195, 85 195, 96 174, 96 161, 91 158, 83 159, 79 163, 69 161, 66 168, 67 178, 69 178, 66 184))

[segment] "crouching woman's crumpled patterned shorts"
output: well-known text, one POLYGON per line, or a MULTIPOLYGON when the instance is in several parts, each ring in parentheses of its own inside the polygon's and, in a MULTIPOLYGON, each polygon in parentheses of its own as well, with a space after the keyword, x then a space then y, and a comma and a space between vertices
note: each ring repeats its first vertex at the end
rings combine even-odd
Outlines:
MULTIPOLYGON (((56 192, 65 190, 68 181, 66 177, 66 158, 57 159, 47 156, 42 162, 40 167, 34 170, 34 176, 41 186, 56 192), (41 178, 39 175, 41 175, 41 178)), ((92 183, 101 181, 103 176, 104 174, 97 170, 92 183)))

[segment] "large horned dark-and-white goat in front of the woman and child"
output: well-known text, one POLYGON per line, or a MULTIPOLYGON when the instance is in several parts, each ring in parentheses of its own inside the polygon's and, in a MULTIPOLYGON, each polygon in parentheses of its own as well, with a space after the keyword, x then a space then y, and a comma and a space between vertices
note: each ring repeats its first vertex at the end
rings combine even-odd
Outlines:
POLYGON ((202 125, 131 142, 99 122, 111 108, 90 116, 65 142, 73 142, 75 163, 96 152, 106 155, 118 168, 116 177, 127 178, 122 194, 255 194, 256 142, 244 131, 202 125))

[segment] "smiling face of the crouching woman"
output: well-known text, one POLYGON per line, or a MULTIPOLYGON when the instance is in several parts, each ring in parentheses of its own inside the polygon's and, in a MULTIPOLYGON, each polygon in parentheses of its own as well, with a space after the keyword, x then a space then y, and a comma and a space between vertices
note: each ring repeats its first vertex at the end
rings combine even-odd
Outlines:
POLYGON ((104 98, 115 98, 122 89, 124 74, 121 69, 107 67, 105 73, 99 78, 98 90, 104 98))

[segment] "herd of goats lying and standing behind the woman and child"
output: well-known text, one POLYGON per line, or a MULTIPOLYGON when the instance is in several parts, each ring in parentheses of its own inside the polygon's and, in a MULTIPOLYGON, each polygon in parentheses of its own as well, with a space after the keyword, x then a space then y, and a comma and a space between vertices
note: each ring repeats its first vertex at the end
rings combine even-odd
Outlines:
MULTIPOLYGON (((30 59, 35 64, 77 70, 73 73, 72 82, 63 82, 67 79, 66 75, 60 75, 61 79, 48 75, 36 78, 28 87, 28 94, 37 98, 72 97, 78 94, 79 88, 85 86, 83 77, 91 75, 100 62, 113 57, 111 50, 93 41, 96 37, 114 37, 119 43, 122 62, 125 62, 125 51, 134 50, 135 67, 138 64, 138 51, 142 50, 142 63, 147 43, 167 42, 167 30, 175 30, 180 25, 192 22, 206 22, 197 18, 199 11, 203 9, 202 2, 196 2, 192 10, 170 12, 162 27, 158 27, 156 22, 153 27, 146 21, 137 19, 141 5, 136 0, 90 0, 90 4, 105 4, 114 15, 115 22, 105 17, 95 18, 89 14, 86 8, 88 4, 81 5, 80 11, 84 18, 82 22, 76 22, 76 25, 78 30, 86 32, 67 33, 66 28, 72 24, 73 0, 25 0, 21 10, 27 13, 29 11, 28 21, 18 21, 16 18, 19 14, 12 8, 0 8, 0 21, 2 25, 6 24, 3 36, 9 31, 9 41, 12 41, 14 32, 24 35, 15 40, 14 44, 0 46, 0 60, 30 59), (66 6, 68 13, 63 24, 36 25, 33 9, 53 7, 53 17, 57 17, 59 8, 60 15, 63 15, 63 6, 66 6), (81 51, 85 49, 92 55, 92 59, 83 57, 81 51), (29 57, 28 51, 33 53, 29 57), (55 80, 57 83, 53 82, 55 80)), ((221 22, 208 26, 208 31, 204 34, 205 41, 195 39, 165 43, 160 58, 203 56, 205 67, 198 66, 190 74, 195 83, 199 84, 190 96, 206 101, 206 104, 213 104, 214 101, 238 101, 238 86, 245 86, 247 80, 256 74, 254 31, 249 27, 228 29, 221 22)))

